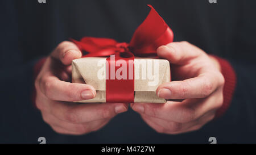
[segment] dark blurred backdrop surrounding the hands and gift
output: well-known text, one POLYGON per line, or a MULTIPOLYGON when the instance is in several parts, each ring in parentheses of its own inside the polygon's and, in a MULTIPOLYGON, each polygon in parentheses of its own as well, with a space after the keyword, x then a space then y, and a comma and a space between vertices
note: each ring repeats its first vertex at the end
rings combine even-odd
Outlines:
POLYGON ((0 143, 256 143, 256 1, 253 0, 1 0, 0 143), (233 102, 220 119, 196 132, 156 133, 129 110, 100 131, 84 136, 58 135, 43 122, 31 102, 32 68, 61 41, 84 36, 129 42, 150 11, 189 41, 226 58, 237 73, 233 102))

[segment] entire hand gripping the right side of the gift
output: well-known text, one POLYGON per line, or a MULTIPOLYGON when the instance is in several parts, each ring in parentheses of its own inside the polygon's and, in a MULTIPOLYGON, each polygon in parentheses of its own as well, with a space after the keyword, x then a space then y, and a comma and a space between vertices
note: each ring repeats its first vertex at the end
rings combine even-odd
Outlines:
POLYGON ((134 111, 155 131, 177 134, 195 131, 214 118, 223 103, 224 77, 218 61, 186 41, 158 48, 158 56, 171 63, 175 81, 163 83, 161 98, 184 99, 164 104, 131 103, 134 111))

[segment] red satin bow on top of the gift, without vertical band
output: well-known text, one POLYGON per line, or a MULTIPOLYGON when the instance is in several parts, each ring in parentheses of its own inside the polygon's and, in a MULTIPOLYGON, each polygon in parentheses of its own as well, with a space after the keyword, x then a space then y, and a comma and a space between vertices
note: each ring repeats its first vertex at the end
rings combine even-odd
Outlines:
POLYGON ((174 40, 174 33, 158 12, 151 6, 151 11, 144 22, 137 28, 129 44, 118 43, 114 39, 83 37, 81 41, 72 41, 82 50, 88 52, 85 57, 114 55, 115 52, 131 51, 135 56, 148 56, 156 53, 156 48, 174 40))

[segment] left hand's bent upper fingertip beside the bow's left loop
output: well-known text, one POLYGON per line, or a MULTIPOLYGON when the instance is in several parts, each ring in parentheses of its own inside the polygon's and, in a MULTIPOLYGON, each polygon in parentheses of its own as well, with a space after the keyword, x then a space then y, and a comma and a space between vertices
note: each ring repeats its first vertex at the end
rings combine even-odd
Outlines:
POLYGON ((81 56, 82 52, 71 41, 63 41, 51 53, 51 57, 60 60, 64 65, 71 65, 73 59, 80 58, 81 56))

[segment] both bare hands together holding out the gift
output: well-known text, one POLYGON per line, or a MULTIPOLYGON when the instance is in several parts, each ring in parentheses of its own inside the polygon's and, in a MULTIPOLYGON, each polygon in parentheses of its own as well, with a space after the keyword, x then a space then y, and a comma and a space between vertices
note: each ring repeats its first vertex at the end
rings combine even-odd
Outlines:
MULTIPOLYGON (((186 41, 161 46, 157 53, 172 64, 175 81, 163 83, 156 93, 162 98, 184 100, 131 103, 131 108, 160 133, 177 134, 203 127, 223 103, 224 77, 218 61, 186 41)), ((97 131, 115 115, 128 110, 126 103, 72 103, 96 95, 90 85, 69 82, 71 62, 81 56, 75 44, 60 43, 47 57, 35 81, 36 106, 44 122, 58 133, 83 135, 97 131)))

